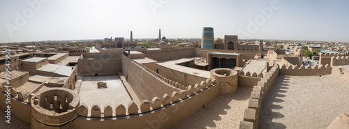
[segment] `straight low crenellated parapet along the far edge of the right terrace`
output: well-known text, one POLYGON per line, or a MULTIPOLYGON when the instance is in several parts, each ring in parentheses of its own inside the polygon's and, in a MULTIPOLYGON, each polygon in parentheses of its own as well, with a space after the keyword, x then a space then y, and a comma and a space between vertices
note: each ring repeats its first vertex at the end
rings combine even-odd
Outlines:
POLYGON ((329 75, 332 69, 329 65, 325 66, 280 66, 280 75, 297 75, 297 76, 309 76, 309 75, 329 75))

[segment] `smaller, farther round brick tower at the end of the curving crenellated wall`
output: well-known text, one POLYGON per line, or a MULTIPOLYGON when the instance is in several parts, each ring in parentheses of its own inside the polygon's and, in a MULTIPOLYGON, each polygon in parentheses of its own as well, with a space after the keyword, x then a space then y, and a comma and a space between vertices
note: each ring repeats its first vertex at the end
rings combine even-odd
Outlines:
POLYGON ((237 77, 237 71, 230 68, 216 68, 210 72, 210 78, 219 82, 219 93, 221 94, 237 91, 237 77))

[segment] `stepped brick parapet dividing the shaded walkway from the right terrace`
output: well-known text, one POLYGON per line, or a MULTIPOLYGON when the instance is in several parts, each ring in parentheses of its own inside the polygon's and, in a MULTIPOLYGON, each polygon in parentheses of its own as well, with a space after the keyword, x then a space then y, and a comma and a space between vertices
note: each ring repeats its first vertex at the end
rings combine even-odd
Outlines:
POLYGON ((257 85, 253 86, 251 99, 248 100, 248 108, 245 109, 244 121, 241 122, 240 128, 258 128, 261 104, 279 76, 279 70, 279 65, 274 66, 257 85))

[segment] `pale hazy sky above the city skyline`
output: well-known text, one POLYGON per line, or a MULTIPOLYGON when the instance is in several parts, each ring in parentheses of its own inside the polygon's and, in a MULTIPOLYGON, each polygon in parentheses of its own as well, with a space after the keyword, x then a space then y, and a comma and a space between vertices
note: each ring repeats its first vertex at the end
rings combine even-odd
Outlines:
POLYGON ((349 42, 348 0, 6 0, 0 43, 114 37, 325 40, 349 42), (35 4, 28 4, 35 3, 35 4), (260 8, 269 8, 261 11, 260 8), (250 21, 250 22, 249 22, 250 21))

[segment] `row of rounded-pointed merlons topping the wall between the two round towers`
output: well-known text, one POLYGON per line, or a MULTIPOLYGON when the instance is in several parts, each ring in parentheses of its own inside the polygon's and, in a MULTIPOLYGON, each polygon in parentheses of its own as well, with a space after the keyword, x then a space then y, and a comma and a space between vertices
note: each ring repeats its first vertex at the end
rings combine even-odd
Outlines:
POLYGON ((206 81, 200 82, 200 84, 195 84, 195 86, 188 86, 187 91, 173 91, 170 95, 165 93, 161 97, 154 97, 151 100, 142 100, 140 105, 136 104, 131 100, 128 105, 105 105, 100 107, 98 104, 93 105, 92 107, 87 107, 87 105, 82 104, 77 108, 77 112, 80 116, 88 116, 88 110, 90 111, 90 116, 94 118, 108 118, 108 117, 123 117, 123 116, 143 116, 147 113, 161 112, 161 110, 173 106, 175 103, 184 101, 187 98, 191 98, 202 91, 208 89, 209 86, 212 86, 216 83, 216 80, 207 79, 206 81), (115 107, 115 109, 112 109, 115 107), (159 110, 160 109, 160 110, 159 110), (142 115, 141 115, 142 114, 142 115))

